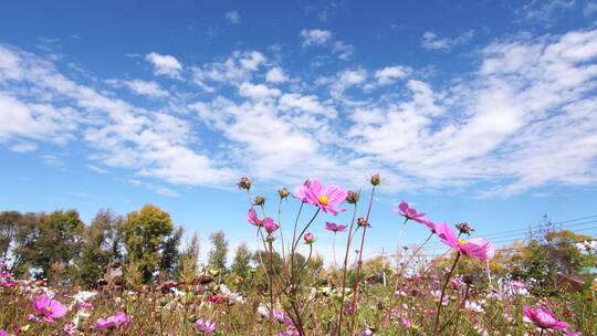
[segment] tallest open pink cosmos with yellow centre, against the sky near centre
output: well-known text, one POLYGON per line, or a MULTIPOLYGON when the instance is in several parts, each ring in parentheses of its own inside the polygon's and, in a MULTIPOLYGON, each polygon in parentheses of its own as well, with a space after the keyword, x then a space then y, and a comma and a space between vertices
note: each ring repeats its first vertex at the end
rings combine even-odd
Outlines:
POLYGON ((346 200, 348 192, 337 186, 324 188, 318 179, 308 179, 294 191, 294 197, 310 204, 320 207, 324 212, 337 214, 345 209, 335 207, 346 200))

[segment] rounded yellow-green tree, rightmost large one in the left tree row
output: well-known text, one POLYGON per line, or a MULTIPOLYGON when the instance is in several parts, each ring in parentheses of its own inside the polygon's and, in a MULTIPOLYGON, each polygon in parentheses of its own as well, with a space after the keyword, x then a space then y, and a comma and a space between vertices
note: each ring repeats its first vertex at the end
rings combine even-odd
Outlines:
POLYGON ((128 267, 137 269, 127 267, 126 272, 138 271, 143 282, 150 283, 160 264, 160 248, 174 230, 170 216, 156 206, 146 204, 127 214, 123 229, 128 267))

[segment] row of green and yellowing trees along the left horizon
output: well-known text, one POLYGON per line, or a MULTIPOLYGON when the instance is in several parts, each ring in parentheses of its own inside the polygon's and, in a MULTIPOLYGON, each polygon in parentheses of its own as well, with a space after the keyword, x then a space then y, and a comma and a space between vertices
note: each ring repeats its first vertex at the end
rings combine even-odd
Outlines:
MULTIPOLYGON (((200 240, 184 240, 184 229, 168 212, 146 204, 118 216, 101 210, 85 224, 76 210, 0 212, 0 259, 19 277, 94 287, 109 264, 126 270, 127 282, 191 281, 199 272, 200 240)), ((222 231, 209 237, 207 265, 218 273, 244 276, 259 255, 245 243, 227 266, 229 243, 222 231)))

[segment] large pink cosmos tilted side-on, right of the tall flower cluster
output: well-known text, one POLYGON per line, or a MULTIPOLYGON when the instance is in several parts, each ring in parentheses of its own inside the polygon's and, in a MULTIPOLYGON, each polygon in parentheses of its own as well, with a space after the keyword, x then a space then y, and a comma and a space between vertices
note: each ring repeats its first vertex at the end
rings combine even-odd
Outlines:
POLYGON ((458 239, 454 231, 447 223, 437 225, 436 233, 440 240, 450 248, 464 255, 476 258, 479 261, 492 259, 495 254, 495 249, 491 242, 480 238, 471 239, 469 241, 458 239))

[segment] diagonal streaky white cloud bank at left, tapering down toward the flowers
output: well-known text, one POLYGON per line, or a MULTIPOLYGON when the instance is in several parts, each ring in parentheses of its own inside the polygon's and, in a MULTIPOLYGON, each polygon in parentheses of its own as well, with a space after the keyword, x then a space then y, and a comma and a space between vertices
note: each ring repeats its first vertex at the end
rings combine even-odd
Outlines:
MULTIPOLYGON (((0 117, 10 119, 0 139, 56 143, 78 138, 93 160, 175 185, 220 186, 235 172, 193 148, 188 120, 146 111, 75 83, 48 61, 0 46, 13 69, 0 67, 0 117), (8 54, 8 56, 7 56, 8 54), (10 78, 9 78, 10 77, 10 78)), ((7 119, 8 120, 8 119, 7 119)), ((3 124, 3 123, 0 123, 3 124)), ((45 155, 49 164, 60 157, 45 155)))

